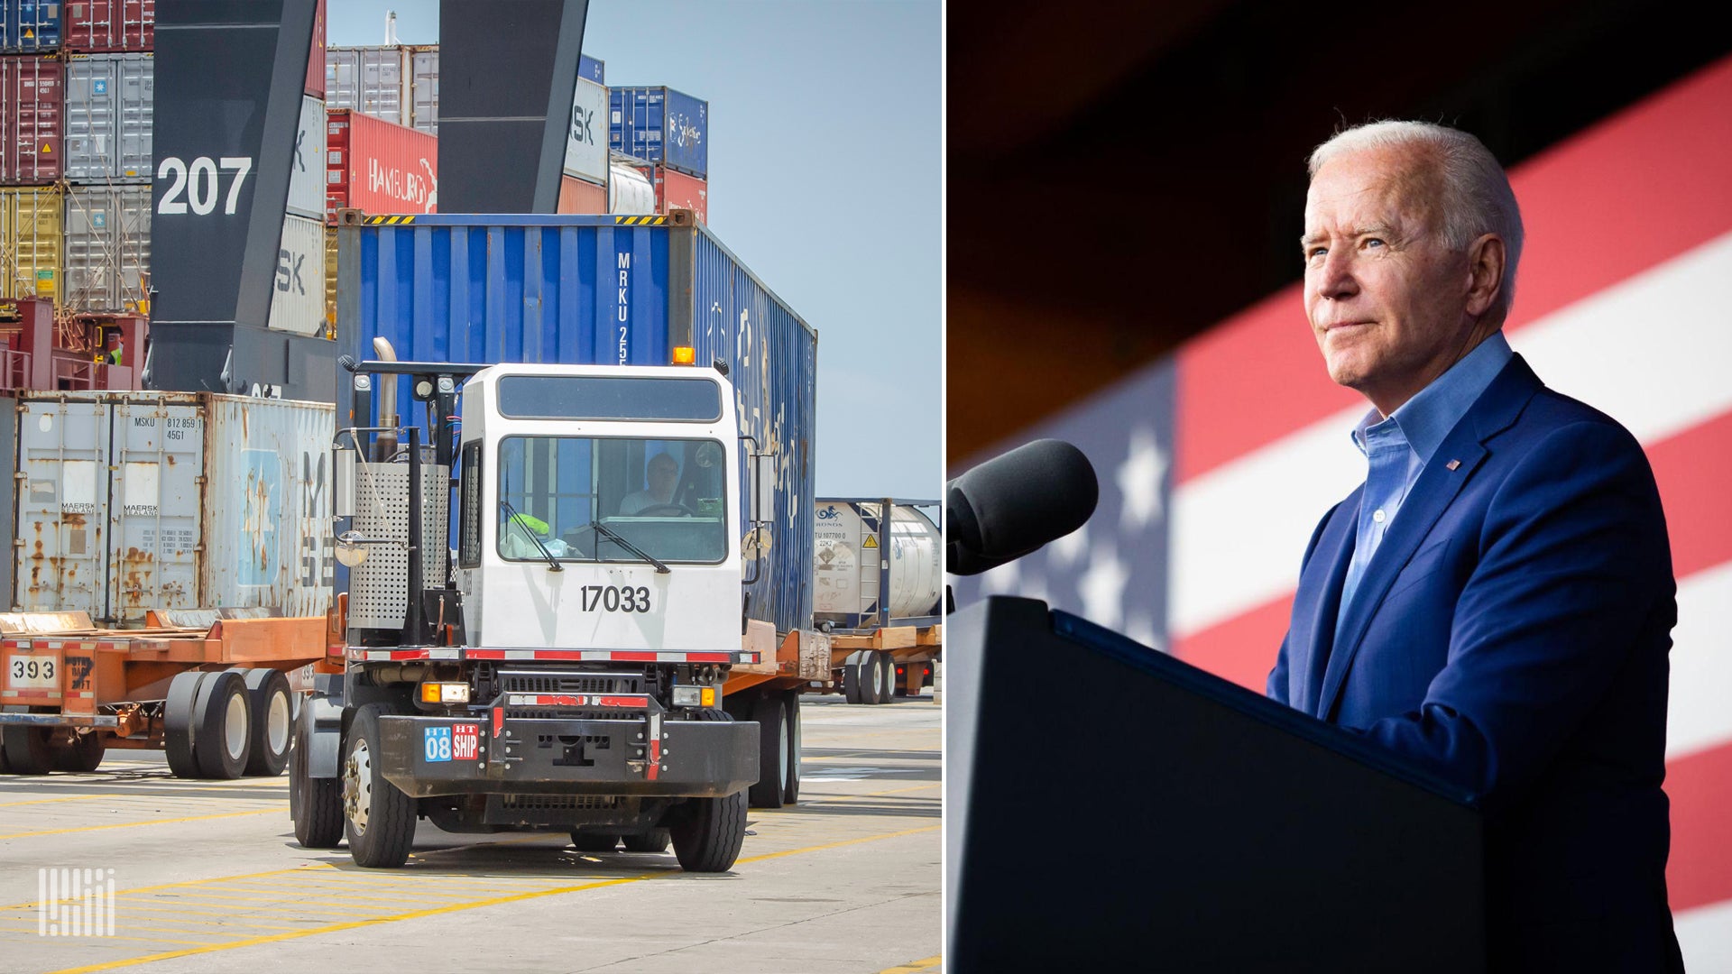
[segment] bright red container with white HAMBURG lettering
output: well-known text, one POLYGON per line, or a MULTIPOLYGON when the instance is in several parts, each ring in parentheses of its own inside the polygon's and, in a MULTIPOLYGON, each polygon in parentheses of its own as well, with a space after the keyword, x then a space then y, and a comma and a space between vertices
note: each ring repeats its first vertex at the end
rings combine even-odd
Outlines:
POLYGON ((383 118, 326 114, 326 222, 365 213, 438 213, 438 139, 383 118))

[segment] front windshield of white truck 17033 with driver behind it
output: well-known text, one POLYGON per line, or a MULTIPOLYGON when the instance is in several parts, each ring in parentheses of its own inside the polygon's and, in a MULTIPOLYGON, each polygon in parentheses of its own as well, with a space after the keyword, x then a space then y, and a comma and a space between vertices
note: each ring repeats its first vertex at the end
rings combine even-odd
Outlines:
POLYGON ((561 562, 643 562, 632 546, 660 562, 722 562, 726 456, 721 442, 700 438, 507 437, 499 496, 516 523, 501 506, 499 556, 546 560, 539 539, 561 562))

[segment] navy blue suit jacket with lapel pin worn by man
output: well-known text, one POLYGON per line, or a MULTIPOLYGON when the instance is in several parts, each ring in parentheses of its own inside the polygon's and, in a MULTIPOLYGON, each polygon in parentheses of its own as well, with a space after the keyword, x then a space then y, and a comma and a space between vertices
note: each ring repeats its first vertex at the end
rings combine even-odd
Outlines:
POLYGON ((1661 790, 1677 603, 1642 447, 1517 355, 1337 633, 1361 490, 1311 536, 1268 695, 1481 799, 1493 969, 1682 969, 1661 790))

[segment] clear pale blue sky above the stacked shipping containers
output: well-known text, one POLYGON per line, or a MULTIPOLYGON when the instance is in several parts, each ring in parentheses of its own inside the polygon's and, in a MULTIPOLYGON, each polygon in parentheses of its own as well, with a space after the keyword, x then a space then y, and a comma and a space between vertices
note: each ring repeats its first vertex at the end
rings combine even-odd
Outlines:
MULTIPOLYGON (((507 3, 511 0, 499 0, 507 3)), ((438 43, 438 0, 329 0, 334 45, 438 43)), ((939 0, 591 0, 608 85, 710 102, 710 229, 818 329, 818 496, 937 499, 939 0)))

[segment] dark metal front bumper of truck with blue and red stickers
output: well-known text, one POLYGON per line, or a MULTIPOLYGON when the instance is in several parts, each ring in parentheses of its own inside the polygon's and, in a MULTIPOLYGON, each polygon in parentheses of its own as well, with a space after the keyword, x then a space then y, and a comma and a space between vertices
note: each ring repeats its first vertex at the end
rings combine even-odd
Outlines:
POLYGON ((759 776, 750 721, 381 716, 379 738, 381 773, 412 797, 721 797, 759 776))

